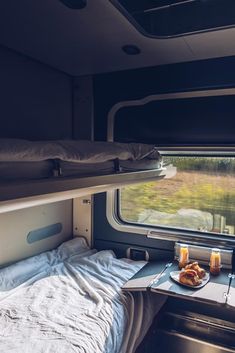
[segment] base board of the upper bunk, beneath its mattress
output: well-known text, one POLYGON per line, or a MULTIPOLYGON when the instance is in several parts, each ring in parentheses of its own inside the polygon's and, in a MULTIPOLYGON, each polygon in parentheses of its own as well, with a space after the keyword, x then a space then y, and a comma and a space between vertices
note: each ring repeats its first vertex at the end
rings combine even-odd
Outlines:
POLYGON ((167 169, 0 182, 0 213, 68 200, 166 177, 167 169))

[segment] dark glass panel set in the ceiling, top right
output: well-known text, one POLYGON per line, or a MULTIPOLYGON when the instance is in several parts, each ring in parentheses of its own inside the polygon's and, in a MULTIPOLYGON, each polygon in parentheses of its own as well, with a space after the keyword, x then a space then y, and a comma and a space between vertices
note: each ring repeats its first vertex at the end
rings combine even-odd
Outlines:
POLYGON ((172 37, 234 26, 234 0, 111 0, 146 35, 172 37))

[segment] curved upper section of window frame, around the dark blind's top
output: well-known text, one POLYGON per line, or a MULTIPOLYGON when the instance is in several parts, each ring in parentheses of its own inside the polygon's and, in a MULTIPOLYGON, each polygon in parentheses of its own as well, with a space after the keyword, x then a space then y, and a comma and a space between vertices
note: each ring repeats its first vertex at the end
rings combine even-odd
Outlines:
POLYGON ((114 140, 115 115, 121 108, 131 107, 131 106, 141 106, 153 101, 162 101, 162 100, 168 100, 168 99, 187 99, 187 98, 199 98, 199 97, 232 96, 232 95, 235 95, 235 88, 222 88, 222 89, 210 89, 210 90, 189 91, 189 92, 154 94, 142 99, 122 101, 122 102, 116 103, 108 113, 107 139, 108 141, 111 141, 111 142, 114 140))

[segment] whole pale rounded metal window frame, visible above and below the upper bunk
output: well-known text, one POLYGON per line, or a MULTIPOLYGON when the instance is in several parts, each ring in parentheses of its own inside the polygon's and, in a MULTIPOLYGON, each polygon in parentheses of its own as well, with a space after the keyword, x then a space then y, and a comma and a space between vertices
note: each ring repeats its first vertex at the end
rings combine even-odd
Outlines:
MULTIPOLYGON (((118 111, 125 107, 131 106, 142 106, 152 101, 158 100, 171 100, 171 99, 185 99, 185 98, 199 98, 199 97, 215 97, 231 95, 235 96, 234 87, 226 88, 210 88, 210 89, 198 89, 192 91, 178 91, 168 93, 158 93, 154 95, 145 96, 140 99, 132 99, 121 101, 112 106, 108 113, 107 121, 107 140, 110 142, 115 141, 114 138, 114 125, 115 118, 118 111)), ((216 146, 161 146, 159 152, 162 155, 176 154, 179 156, 230 156, 235 157, 235 145, 216 145, 216 146)), ((136 182, 138 183, 138 181, 136 182)), ((130 224, 122 221, 118 217, 118 190, 107 191, 106 193, 106 218, 108 223, 115 230, 122 233, 132 233, 137 235, 144 235, 147 239, 163 240, 168 242, 189 242, 195 245, 204 246, 219 246, 221 248, 227 248, 228 246, 235 247, 235 236, 234 240, 232 237, 226 235, 210 235, 208 233, 198 232, 196 235, 193 231, 180 231, 180 230, 167 230, 166 228, 160 228, 155 226, 140 226, 136 224, 130 224), (206 237, 205 237, 206 234, 206 237)))

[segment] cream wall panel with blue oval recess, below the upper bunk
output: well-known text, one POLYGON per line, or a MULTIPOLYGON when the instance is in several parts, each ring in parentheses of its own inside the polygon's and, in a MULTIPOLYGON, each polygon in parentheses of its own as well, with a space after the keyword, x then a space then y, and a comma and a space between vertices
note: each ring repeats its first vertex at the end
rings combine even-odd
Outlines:
POLYGON ((0 214, 0 266, 53 249, 71 237, 72 200, 0 214), (31 232, 48 235, 48 227, 58 223, 51 236, 28 241, 31 232))

